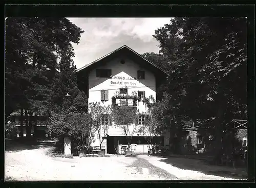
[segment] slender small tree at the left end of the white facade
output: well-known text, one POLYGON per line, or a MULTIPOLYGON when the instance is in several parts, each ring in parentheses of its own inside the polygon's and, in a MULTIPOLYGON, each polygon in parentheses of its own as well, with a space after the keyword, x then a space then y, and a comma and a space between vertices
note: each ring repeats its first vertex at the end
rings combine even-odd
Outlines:
POLYGON ((90 103, 89 104, 89 113, 91 116, 91 121, 93 127, 97 130, 99 135, 99 147, 101 150, 101 145, 104 140, 102 137, 106 137, 109 131, 109 126, 112 123, 112 109, 111 106, 102 106, 100 103, 90 103))

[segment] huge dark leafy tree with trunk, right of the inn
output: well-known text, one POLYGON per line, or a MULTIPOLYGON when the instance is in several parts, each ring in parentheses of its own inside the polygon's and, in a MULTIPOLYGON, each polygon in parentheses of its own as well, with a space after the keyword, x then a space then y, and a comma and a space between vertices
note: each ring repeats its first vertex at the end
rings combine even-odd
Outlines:
POLYGON ((180 98, 179 114, 214 120, 218 158, 222 126, 246 117, 246 19, 175 18, 154 37, 165 56, 175 60, 166 91, 172 100, 180 98), (169 41, 179 41, 174 42, 177 51, 169 41))

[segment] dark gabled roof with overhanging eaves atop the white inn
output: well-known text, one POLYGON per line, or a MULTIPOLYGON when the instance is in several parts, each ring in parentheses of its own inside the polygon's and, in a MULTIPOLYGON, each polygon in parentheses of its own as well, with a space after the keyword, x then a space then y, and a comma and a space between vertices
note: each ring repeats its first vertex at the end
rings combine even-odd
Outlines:
POLYGON ((131 48, 129 48, 127 45, 123 45, 120 48, 110 52, 109 54, 106 54, 105 56, 87 64, 86 66, 83 66, 81 68, 79 68, 77 70, 77 72, 80 72, 83 69, 89 69, 92 66, 99 66, 100 62, 106 60, 106 59, 110 59, 112 57, 115 57, 116 54, 119 54, 120 52, 125 52, 128 53, 130 55, 132 55, 132 58, 139 58, 142 60, 142 62, 144 62, 145 65, 147 65, 146 67, 151 66, 152 68, 154 67, 155 69, 157 69, 158 71, 164 73, 167 75, 167 73, 165 72, 165 70, 163 70, 161 67, 157 66, 156 64, 152 63, 151 61, 148 61, 146 58, 144 58, 143 56, 141 56, 140 54, 138 54, 137 52, 135 52, 134 50, 132 50, 131 48))

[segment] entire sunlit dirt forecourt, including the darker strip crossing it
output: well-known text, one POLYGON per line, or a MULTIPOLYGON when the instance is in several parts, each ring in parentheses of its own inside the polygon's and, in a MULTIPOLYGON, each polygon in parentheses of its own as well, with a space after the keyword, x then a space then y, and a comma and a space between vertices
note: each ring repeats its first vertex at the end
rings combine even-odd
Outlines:
MULTIPOLYGON (((6 180, 231 180, 175 167, 161 157, 50 157, 54 146, 5 152, 6 180)), ((187 159, 184 159, 187 160, 187 159)))

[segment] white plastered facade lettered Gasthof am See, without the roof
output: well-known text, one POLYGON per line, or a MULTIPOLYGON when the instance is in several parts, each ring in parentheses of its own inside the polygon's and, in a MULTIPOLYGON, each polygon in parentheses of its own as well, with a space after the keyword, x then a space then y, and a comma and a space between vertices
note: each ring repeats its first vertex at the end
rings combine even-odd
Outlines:
MULTIPOLYGON (((90 65, 89 65, 90 66, 90 65)), ((144 91, 144 97, 149 98, 152 96, 156 100, 156 77, 154 73, 145 68, 145 66, 140 66, 138 62, 134 62, 132 58, 127 57, 127 55, 120 55, 104 63, 99 64, 97 67, 91 69, 88 73, 88 103, 99 102, 101 105, 112 105, 112 97, 116 96, 120 88, 127 88, 127 95, 132 96, 132 94, 139 93, 139 91, 144 91), (97 69, 111 69, 111 75, 109 77, 98 77, 96 74, 97 69), (138 70, 144 72, 144 79, 138 79, 138 70), (108 100, 102 100, 102 91, 107 90, 108 100)), ((141 93, 140 92, 140 93, 141 93)), ((137 102, 137 110, 139 113, 146 112, 146 105, 142 101, 137 102)), ((130 130, 132 131, 136 126, 136 131, 133 136, 142 136, 138 134, 138 129, 140 125, 131 125, 130 130)), ((99 138, 95 132, 95 136, 92 146, 99 146, 99 138)), ((102 136, 103 133, 101 133, 102 136)), ((109 127, 109 136, 124 136, 122 129, 116 125, 109 127)), ((101 137, 102 140, 102 137, 101 137)), ((102 146, 104 149, 107 148, 107 139, 104 139, 102 146)), ((131 143, 133 144, 133 143, 131 143)), ((145 153, 145 146, 137 146, 136 151, 139 153, 145 153), (141 148, 141 149, 140 149, 141 148), (139 151, 141 150, 141 151, 139 151)), ((147 152, 147 150, 146 150, 147 152)))

